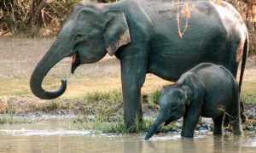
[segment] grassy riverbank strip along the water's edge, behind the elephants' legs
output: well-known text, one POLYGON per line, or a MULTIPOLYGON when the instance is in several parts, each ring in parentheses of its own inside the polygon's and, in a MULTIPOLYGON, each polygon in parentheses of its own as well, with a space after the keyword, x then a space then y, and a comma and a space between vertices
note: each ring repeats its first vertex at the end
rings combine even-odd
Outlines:
MULTIPOLYGON (((144 122, 137 122, 137 133, 147 132, 158 115, 159 94, 160 92, 157 91, 143 95, 144 122)), ((129 133, 123 121, 122 96, 118 90, 86 94, 81 99, 14 98, 6 101, 5 106, 1 104, 0 124, 35 123, 44 120, 44 116, 73 116, 73 123, 78 129, 86 129, 93 133, 129 133)), ((242 124, 242 129, 245 134, 255 135, 256 103, 246 103, 245 114, 248 120, 242 124)), ((212 127, 210 118, 201 118, 196 130, 204 134, 211 132, 212 127)), ((162 125, 159 132, 180 133, 181 129, 182 119, 172 122, 167 127, 162 125)), ((231 129, 225 130, 230 132, 231 129)))

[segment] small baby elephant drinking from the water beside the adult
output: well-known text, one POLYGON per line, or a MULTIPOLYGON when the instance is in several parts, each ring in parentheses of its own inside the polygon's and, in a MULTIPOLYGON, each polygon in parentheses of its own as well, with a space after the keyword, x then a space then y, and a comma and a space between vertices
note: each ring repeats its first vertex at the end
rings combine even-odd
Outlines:
POLYGON ((224 112, 235 134, 241 134, 239 92, 235 78, 221 65, 202 63, 183 74, 160 94, 160 114, 144 139, 150 139, 162 122, 165 126, 183 116, 183 137, 193 137, 200 116, 212 117, 213 134, 222 133, 224 112))

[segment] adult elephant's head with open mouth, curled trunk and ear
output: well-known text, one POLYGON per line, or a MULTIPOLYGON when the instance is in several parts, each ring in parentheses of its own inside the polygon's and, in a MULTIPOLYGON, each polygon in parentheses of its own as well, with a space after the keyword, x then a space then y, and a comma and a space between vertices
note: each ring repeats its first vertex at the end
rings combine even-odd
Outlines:
POLYGON ((40 99, 55 99, 67 88, 66 79, 55 91, 46 91, 42 82, 48 71, 61 59, 73 57, 72 73, 86 63, 94 63, 107 53, 113 55, 120 46, 131 42, 125 14, 105 6, 90 4, 74 9, 62 26, 53 45, 32 72, 30 87, 40 99))

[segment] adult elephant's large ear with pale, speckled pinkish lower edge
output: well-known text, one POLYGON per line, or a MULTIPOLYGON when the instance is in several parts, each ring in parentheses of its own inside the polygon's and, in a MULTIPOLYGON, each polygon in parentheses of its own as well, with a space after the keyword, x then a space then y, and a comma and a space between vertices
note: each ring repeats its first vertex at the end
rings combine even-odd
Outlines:
POLYGON ((122 11, 109 10, 106 16, 103 38, 108 54, 113 55, 119 47, 131 42, 130 31, 122 11))

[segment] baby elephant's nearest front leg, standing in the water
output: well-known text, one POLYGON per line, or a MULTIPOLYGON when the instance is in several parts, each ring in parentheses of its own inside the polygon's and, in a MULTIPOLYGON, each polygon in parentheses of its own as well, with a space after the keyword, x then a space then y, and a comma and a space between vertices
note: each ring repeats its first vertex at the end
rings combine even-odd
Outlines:
MULTIPOLYGON (((198 107, 199 109, 200 107, 198 107)), ((194 137, 195 127, 199 121, 201 109, 189 109, 183 116, 182 137, 194 137)))

